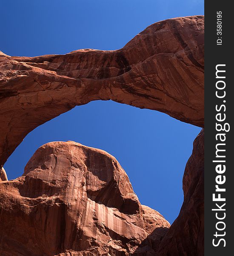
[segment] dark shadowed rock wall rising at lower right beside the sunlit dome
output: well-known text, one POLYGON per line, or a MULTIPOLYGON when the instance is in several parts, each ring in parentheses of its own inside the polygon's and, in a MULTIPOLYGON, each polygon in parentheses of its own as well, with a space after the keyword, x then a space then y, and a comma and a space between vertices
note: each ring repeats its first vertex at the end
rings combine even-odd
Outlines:
POLYGON ((184 201, 157 256, 204 255, 204 130, 194 140, 183 177, 184 201))

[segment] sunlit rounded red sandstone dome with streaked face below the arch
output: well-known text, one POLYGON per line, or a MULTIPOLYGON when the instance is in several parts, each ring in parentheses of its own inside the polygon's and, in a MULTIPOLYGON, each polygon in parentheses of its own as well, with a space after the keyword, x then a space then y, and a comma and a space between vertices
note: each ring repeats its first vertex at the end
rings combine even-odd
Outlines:
POLYGON ((0 191, 1 256, 154 255, 170 226, 114 157, 79 143, 43 145, 0 191))

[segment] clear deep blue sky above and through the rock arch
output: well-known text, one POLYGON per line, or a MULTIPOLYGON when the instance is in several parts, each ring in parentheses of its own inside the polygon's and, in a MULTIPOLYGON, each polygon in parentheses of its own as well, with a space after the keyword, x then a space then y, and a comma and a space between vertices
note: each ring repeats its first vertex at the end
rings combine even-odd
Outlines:
MULTIPOLYGON (((119 49, 154 22, 204 14, 203 5, 203 0, 2 0, 0 50, 37 56, 119 49)), ((22 175, 34 151, 51 141, 101 148, 123 166, 140 202, 172 223, 183 202, 183 172, 199 131, 157 111, 96 101, 37 127, 4 167, 9 179, 22 175)))

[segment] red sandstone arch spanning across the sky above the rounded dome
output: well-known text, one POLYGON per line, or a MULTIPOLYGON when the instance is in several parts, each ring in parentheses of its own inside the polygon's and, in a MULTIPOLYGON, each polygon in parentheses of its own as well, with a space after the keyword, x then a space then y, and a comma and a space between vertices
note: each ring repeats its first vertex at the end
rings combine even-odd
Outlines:
POLYGON ((0 165, 38 125, 75 105, 112 99, 204 123, 204 18, 163 20, 116 51, 0 55, 0 165))

